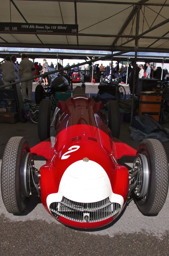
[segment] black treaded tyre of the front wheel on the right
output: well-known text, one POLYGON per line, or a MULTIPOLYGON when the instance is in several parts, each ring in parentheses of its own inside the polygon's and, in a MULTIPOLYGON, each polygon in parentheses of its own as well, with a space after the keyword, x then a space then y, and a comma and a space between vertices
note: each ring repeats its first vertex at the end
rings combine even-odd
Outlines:
POLYGON ((157 215, 166 200, 168 192, 168 160, 163 145, 158 140, 143 140, 137 154, 144 154, 149 165, 149 185, 145 197, 135 198, 142 214, 157 215))

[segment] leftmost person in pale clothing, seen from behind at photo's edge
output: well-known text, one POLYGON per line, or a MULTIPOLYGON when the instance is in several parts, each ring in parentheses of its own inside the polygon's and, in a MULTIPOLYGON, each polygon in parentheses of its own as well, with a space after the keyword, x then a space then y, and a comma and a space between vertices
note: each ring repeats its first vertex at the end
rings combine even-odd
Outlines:
MULTIPOLYGON (((8 84, 15 81, 15 73, 14 73, 14 65, 11 62, 11 58, 9 56, 6 57, 6 62, 1 65, 3 72, 3 83, 8 84)), ((6 89, 10 89, 12 86, 6 87, 6 89)))

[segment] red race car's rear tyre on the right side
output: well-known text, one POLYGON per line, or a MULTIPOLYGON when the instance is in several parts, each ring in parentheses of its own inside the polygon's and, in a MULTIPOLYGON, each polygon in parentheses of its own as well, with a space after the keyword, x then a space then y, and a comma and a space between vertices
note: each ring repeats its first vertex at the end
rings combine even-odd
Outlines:
POLYGON ((110 100, 106 104, 105 111, 108 114, 108 128, 115 138, 120 136, 120 109, 116 100, 110 100))

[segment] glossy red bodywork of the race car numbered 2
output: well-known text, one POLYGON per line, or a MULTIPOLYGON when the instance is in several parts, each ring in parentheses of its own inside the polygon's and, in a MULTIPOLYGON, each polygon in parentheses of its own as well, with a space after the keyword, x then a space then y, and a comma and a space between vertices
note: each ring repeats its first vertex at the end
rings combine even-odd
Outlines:
MULTIPOLYGON (((40 168, 41 200, 52 216, 54 215, 47 206, 47 197, 58 193, 61 179, 67 168, 83 158, 89 158, 104 169, 112 192, 124 200, 121 210, 127 202, 128 170, 127 167, 118 164, 118 159, 123 156, 135 156, 136 150, 112 138, 110 130, 99 114, 102 107, 101 102, 96 103, 93 99, 85 97, 74 96, 65 102, 59 101, 60 111, 56 121, 54 148, 51 148, 50 139, 31 148, 34 155, 46 158, 46 164, 40 168), (68 154, 74 145, 79 148, 68 154), (69 157, 62 159, 63 155, 69 155, 69 157)), ((72 227, 97 228, 112 222, 114 218, 105 218, 96 222, 79 222, 64 216, 59 216, 57 219, 72 227)))

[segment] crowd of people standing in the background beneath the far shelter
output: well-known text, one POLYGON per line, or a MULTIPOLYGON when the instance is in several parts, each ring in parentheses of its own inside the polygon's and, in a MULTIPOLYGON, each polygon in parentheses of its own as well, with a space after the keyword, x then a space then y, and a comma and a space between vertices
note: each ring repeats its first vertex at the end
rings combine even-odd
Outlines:
MULTIPOLYGON (((97 81, 100 82, 100 76, 103 75, 103 77, 106 77, 108 79, 111 78, 122 78, 122 83, 126 83, 126 76, 128 77, 127 83, 129 83, 130 91, 132 93, 133 88, 133 77, 134 77, 134 61, 132 61, 128 67, 127 64, 125 66, 121 65, 119 67, 119 62, 116 62, 115 65, 112 65, 112 62, 107 65, 107 67, 103 66, 103 63, 101 63, 100 67, 99 64, 91 63, 87 67, 85 65, 80 66, 80 63, 78 62, 79 66, 75 68, 71 68, 69 65, 69 62, 66 65, 66 68, 70 67, 66 70, 67 75, 71 75, 75 70, 80 72, 81 70, 88 71, 90 75, 95 75, 97 77, 97 81)), ((75 65, 75 63, 73 63, 75 65)), ((73 66, 72 65, 72 66, 73 66)), ((1 64, 0 67, 0 74, 1 72, 3 75, 0 75, 0 78, 3 77, 3 83, 2 79, 0 79, 0 85, 2 84, 8 84, 15 81, 20 81, 22 79, 30 78, 36 75, 42 74, 41 80, 37 80, 37 84, 44 83, 44 86, 50 85, 49 76, 45 75, 45 73, 49 71, 53 71, 54 69, 60 69, 63 68, 63 66, 58 64, 53 64, 51 62, 50 66, 48 65, 46 59, 43 59, 43 64, 35 62, 33 63, 28 59, 27 54, 22 54, 22 60, 20 63, 17 61, 17 57, 15 55, 12 55, 11 57, 7 56, 6 61, 1 64), (57 67, 58 66, 58 67, 57 67)), ((153 67, 153 65, 149 62, 145 63, 145 65, 136 65, 136 81, 135 84, 137 84, 138 78, 156 78, 161 79, 162 75, 162 68, 161 67, 153 67)), ((169 80, 168 70, 165 68, 163 69, 163 80, 169 80)), ((26 88, 28 88, 28 97, 29 99, 32 99, 32 82, 33 80, 22 82, 21 83, 21 89, 22 89, 22 99, 23 102, 25 102, 26 98, 26 88)), ((11 86, 7 87, 8 89, 11 88, 11 86)))

